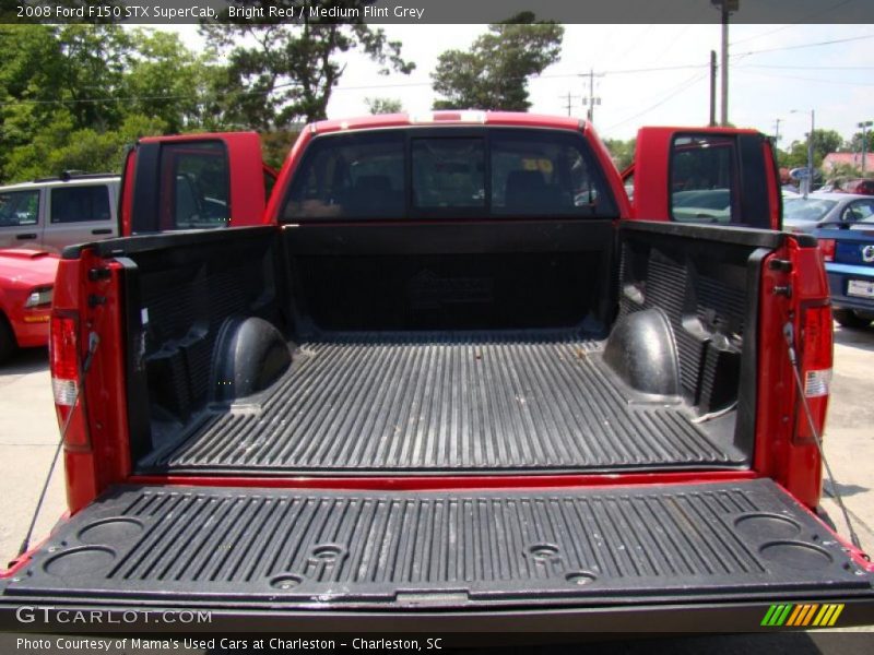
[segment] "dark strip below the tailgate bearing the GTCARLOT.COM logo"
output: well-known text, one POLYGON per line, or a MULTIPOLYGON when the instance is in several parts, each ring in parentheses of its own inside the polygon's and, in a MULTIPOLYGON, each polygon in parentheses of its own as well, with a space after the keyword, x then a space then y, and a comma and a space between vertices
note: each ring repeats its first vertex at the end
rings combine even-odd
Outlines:
MULTIPOLYGON (((318 603, 314 603, 314 607, 318 603)), ((874 595, 858 598, 643 603, 603 607, 434 611, 350 611, 342 608, 287 610, 281 605, 143 605, 0 602, 0 630, 32 633, 267 632, 267 633, 527 633, 544 641, 554 633, 733 633, 847 628, 874 623, 874 595), (781 615, 781 616, 778 616, 781 615), (830 620, 816 619, 824 616, 830 620), (775 618, 776 617, 776 618, 775 618), (810 617, 810 618, 807 618, 810 617)), ((342 641, 342 640, 341 640, 342 641)), ((539 641, 534 639, 533 641, 539 641)))

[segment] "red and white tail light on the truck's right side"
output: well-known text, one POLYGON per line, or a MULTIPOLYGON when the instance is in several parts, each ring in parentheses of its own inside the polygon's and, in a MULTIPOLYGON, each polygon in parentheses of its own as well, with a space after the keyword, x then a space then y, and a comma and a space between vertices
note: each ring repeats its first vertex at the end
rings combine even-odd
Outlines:
MULTIPOLYGON (((811 408, 819 434, 826 421, 828 391, 831 383, 831 308, 827 305, 807 307, 801 312, 801 347, 799 364, 804 397, 811 408)), ((806 413, 799 414, 799 439, 813 439, 806 413)))

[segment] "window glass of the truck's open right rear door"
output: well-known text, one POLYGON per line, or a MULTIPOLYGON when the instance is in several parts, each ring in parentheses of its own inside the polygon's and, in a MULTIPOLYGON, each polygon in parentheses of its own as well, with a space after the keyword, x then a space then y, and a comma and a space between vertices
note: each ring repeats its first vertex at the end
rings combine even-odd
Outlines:
POLYGON ((671 216, 682 223, 736 223, 737 166, 733 139, 677 136, 671 152, 671 216))

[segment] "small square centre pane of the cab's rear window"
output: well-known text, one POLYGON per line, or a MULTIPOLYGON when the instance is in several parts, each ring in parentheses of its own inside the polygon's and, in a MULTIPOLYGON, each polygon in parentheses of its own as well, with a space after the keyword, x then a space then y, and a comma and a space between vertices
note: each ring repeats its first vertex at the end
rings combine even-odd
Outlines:
POLYGON ((413 204, 418 210, 485 206, 482 139, 415 139, 413 204))

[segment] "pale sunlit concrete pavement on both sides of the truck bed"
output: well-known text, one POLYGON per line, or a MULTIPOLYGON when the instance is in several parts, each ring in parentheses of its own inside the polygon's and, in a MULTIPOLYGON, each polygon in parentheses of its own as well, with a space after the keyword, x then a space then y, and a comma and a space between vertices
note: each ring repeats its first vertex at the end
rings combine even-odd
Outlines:
MULTIPOLYGON (((826 453, 863 546, 874 552, 874 327, 835 327, 835 374, 826 453)), ((0 369, 0 558, 19 550, 58 440, 45 349, 24 352, 0 369)), ((830 488, 823 505, 847 535, 830 488)), ((34 531, 42 539, 64 511, 59 462, 34 531)))

